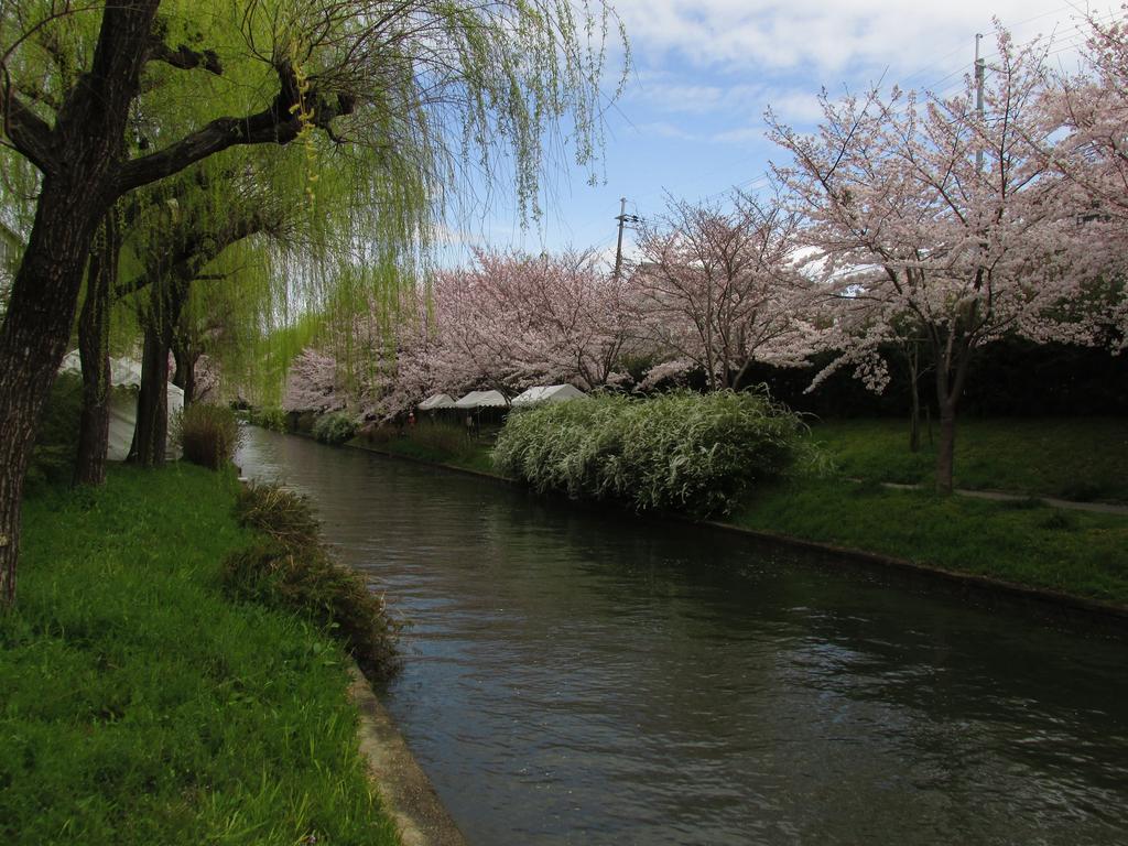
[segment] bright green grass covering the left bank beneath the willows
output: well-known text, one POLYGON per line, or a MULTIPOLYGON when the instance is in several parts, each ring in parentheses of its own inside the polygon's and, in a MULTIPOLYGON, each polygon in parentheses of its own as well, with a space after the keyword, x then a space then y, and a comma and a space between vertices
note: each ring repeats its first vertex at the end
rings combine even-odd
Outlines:
POLYGON ((394 844, 341 650, 224 600, 233 479, 121 468, 25 504, 0 616, 10 844, 394 844))

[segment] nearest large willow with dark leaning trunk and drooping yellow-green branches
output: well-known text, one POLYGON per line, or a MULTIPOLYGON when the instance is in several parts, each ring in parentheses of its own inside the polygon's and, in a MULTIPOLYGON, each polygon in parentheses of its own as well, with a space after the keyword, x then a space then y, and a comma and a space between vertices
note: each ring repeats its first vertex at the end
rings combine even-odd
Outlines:
POLYGON ((519 203, 535 213, 546 125, 567 118, 582 162, 598 146, 603 7, 579 18, 570 5, 526 0, 203 7, 9 0, 0 16, 2 140, 41 174, 0 328, 7 603, 36 421, 65 352, 95 232, 120 197, 231 148, 321 133, 360 177, 358 195, 414 175, 405 209, 414 237, 465 170, 488 177, 511 164, 519 203), (168 76, 199 123, 156 125, 138 138, 135 124, 166 114, 167 88, 152 80, 168 76))

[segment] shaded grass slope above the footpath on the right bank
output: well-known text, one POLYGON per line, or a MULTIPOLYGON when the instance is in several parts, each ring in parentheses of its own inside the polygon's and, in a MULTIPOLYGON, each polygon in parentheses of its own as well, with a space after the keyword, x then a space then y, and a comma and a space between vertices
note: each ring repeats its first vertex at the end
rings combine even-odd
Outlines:
MULTIPOLYGON (((934 440, 938 426, 934 423, 934 440)), ((908 450, 901 420, 822 421, 814 440, 847 477, 934 484, 935 444, 908 450)), ((957 423, 955 485, 1072 500, 1128 502, 1128 420, 966 418, 957 423)))

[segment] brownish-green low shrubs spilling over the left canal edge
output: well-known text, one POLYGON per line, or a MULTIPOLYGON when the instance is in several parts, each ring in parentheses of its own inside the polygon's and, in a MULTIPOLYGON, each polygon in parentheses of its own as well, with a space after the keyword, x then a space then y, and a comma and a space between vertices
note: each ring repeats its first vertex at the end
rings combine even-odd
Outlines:
POLYGON ((309 500, 276 485, 253 485, 239 495, 236 514, 268 540, 227 557, 227 591, 306 617, 341 641, 369 678, 388 677, 396 668, 398 625, 384 598, 329 556, 309 500))

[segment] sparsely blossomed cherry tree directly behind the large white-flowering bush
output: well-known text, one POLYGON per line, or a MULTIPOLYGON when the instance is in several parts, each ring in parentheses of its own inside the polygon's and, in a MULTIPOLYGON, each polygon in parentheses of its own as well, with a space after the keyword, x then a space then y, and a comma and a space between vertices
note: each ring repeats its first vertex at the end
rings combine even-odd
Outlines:
POLYGON ((794 266, 801 218, 737 194, 731 211, 671 200, 640 230, 632 274, 641 331, 666 360, 644 384, 700 369, 711 389, 739 388, 757 360, 797 364, 814 329, 811 283, 794 266))

